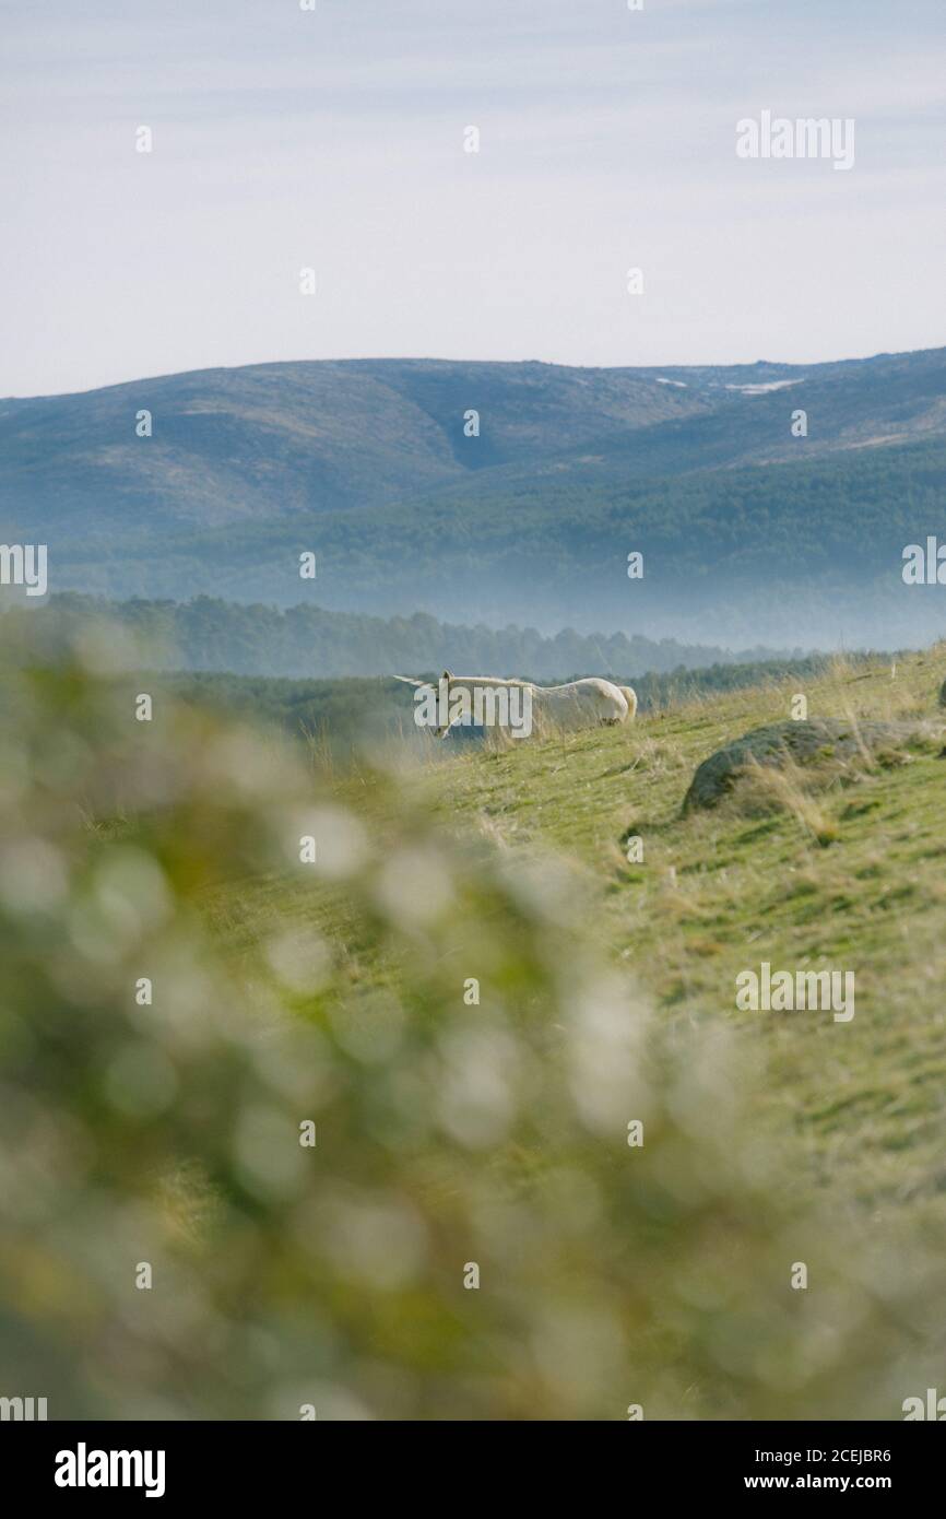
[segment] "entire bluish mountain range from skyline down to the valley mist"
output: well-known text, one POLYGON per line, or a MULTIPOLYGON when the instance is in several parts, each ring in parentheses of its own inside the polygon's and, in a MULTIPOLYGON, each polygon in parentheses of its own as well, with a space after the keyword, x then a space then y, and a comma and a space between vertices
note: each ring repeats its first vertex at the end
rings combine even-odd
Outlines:
POLYGON ((0 539, 47 542, 55 591, 907 644, 946 627, 946 588, 900 580, 905 544, 946 542, 944 500, 946 349, 257 365, 0 403, 0 539))

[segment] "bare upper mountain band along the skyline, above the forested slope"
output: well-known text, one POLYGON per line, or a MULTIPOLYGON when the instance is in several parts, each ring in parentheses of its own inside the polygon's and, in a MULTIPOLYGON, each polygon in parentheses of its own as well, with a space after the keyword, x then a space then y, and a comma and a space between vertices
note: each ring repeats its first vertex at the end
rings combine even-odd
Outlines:
POLYGON ((67 535, 322 515, 536 472, 676 474, 946 433, 946 349, 805 369, 254 365, 0 401, 5 521, 67 535), (667 381, 667 383, 665 383, 667 381), (767 390, 759 387, 782 386, 767 390), (793 439, 791 412, 809 413, 793 439), (135 418, 152 413, 150 437, 135 418), (475 410, 480 436, 465 436, 475 410))

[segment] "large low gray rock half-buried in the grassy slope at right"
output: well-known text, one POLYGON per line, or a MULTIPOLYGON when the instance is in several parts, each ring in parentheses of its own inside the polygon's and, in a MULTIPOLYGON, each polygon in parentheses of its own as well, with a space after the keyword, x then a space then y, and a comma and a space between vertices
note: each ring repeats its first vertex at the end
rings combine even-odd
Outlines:
POLYGON ((905 749, 911 743, 925 747, 935 735, 922 723, 875 723, 840 717, 812 717, 808 722, 770 723, 753 728, 724 749, 717 749, 709 760, 697 767, 689 790, 683 797, 683 811, 694 807, 715 807, 746 766, 753 761, 761 766, 814 764, 818 760, 852 760, 862 753, 884 749, 905 749))

